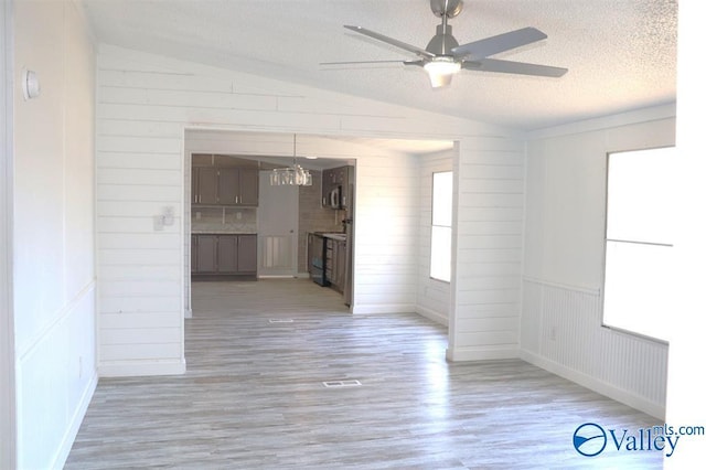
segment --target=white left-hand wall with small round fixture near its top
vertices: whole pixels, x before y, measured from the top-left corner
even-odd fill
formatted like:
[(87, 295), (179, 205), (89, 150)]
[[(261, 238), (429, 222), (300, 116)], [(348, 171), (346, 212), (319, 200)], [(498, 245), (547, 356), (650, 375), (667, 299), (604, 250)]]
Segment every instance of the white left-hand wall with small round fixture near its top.
[(30, 100), (20, 86), (12, 87), (17, 468), (62, 468), (98, 378), (96, 50), (89, 25), (71, 0), (17, 1), (10, 9), (10, 76), (18, 79), (28, 67), (42, 86), (41, 95)]

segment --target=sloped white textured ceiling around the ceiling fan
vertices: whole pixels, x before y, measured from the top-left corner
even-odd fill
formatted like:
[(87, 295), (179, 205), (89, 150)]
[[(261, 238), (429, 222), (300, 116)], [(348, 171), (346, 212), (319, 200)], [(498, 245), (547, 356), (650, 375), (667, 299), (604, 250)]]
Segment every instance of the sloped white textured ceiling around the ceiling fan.
[(463, 71), (431, 89), (419, 67), (323, 67), (409, 60), (343, 29), (425, 47), (427, 0), (83, 0), (101, 42), (453, 116), (539, 129), (676, 100), (676, 0), (466, 0), (463, 44), (535, 26), (548, 39), (494, 56), (567, 67), (561, 78)]

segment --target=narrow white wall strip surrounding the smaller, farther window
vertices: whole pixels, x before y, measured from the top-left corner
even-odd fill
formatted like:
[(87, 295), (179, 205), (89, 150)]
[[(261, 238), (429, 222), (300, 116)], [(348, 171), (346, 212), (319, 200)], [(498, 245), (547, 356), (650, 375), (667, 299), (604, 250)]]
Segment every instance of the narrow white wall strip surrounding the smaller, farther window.
[(449, 323), (450, 284), (429, 277), (431, 256), (431, 193), (434, 173), (453, 170), (453, 151), (419, 156), (419, 254), (417, 313), (441, 324)]

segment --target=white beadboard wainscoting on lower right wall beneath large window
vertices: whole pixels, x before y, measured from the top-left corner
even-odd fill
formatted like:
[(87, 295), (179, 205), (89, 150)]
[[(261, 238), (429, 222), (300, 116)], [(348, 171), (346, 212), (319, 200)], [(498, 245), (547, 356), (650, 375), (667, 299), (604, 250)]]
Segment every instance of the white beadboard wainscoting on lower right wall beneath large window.
[(601, 323), (598, 291), (524, 280), (524, 359), (664, 418), (667, 345)]

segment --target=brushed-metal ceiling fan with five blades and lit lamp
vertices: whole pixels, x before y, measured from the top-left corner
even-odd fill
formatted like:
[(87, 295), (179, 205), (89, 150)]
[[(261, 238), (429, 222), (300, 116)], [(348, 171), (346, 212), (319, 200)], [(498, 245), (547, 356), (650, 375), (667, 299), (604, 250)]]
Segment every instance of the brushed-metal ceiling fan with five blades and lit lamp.
[[(547, 38), (545, 33), (535, 28), (522, 28), (520, 30), (459, 45), (456, 38), (451, 34), (451, 25), (448, 24), (448, 20), (457, 17), (461, 12), (463, 9), (463, 0), (430, 0), (430, 3), (434, 14), (441, 18), (441, 24), (437, 26), (437, 33), (431, 38), (431, 41), (429, 41), (426, 49), (407, 44), (362, 26), (344, 25), (343, 28), (417, 54), (419, 57), (418, 60), (402, 61), (402, 63), (405, 65), (417, 65), (424, 67), (429, 75), (432, 88), (450, 85), (453, 75), (462, 68), (545, 77), (560, 77), (568, 72), (567, 68), (561, 67), (490, 58), (491, 55), (532, 44)], [(399, 61), (327, 62), (321, 65), (370, 64), (383, 62)]]

